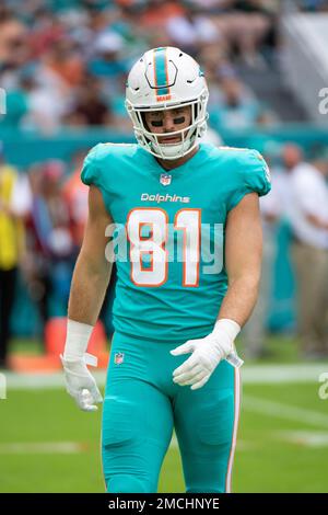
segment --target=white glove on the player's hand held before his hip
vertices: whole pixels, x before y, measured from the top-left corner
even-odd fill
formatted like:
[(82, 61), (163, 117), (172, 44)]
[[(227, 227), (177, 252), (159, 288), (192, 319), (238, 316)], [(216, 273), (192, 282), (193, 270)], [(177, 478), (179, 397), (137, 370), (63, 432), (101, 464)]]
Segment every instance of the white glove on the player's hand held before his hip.
[(188, 340), (171, 351), (174, 356), (192, 353), (174, 370), (173, 381), (179, 386), (191, 385), (191, 390), (197, 390), (209, 380), (221, 359), (229, 358), (232, 365), (241, 366), (243, 362), (234, 351), (234, 340), (239, 331), (241, 327), (234, 320), (221, 319), (208, 336)]

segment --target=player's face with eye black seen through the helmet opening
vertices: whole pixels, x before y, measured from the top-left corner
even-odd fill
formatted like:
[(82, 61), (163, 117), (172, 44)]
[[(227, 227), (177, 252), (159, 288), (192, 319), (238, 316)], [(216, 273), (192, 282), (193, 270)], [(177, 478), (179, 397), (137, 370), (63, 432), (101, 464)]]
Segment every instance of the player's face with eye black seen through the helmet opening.
[[(191, 105), (173, 110), (150, 111), (144, 114), (144, 121), (149, 130), (153, 134), (175, 133), (189, 127), (191, 124)], [(159, 142), (164, 145), (178, 144), (179, 141), (181, 141), (181, 134), (159, 137)]]

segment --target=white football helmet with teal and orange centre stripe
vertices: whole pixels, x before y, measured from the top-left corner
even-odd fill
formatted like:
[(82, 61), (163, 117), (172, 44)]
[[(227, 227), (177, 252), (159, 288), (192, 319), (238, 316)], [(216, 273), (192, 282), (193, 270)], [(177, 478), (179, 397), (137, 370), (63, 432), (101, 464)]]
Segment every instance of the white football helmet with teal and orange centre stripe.
[[(161, 159), (177, 159), (190, 152), (207, 130), (209, 91), (203, 72), (192, 57), (179, 48), (147, 52), (132, 67), (126, 90), (126, 108), (138, 144)], [(143, 113), (191, 105), (191, 124), (165, 136), (181, 135), (178, 144), (160, 144), (160, 134), (145, 126)]]

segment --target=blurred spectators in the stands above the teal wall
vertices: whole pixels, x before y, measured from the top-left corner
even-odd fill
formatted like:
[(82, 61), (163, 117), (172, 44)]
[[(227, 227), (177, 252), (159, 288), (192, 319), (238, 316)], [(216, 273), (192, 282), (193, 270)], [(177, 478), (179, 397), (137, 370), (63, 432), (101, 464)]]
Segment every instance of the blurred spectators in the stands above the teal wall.
[[(129, 129), (126, 75), (147, 49), (179, 46), (204, 68), (213, 122), (270, 124), (273, 114), (238, 76), (277, 49), (278, 0), (0, 0), (5, 128)], [(220, 108), (218, 108), (220, 107)]]

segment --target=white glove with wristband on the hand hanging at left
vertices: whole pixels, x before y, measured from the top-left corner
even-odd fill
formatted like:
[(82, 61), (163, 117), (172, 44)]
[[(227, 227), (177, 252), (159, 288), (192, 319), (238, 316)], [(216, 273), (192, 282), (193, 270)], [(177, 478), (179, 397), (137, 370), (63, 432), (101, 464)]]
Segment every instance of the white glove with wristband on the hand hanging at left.
[(65, 353), (63, 356), (60, 355), (67, 391), (83, 411), (96, 411), (95, 404), (103, 402), (96, 382), (86, 367), (86, 364), (96, 366), (97, 362), (94, 356), (85, 354), (92, 331), (92, 325), (68, 320)]

